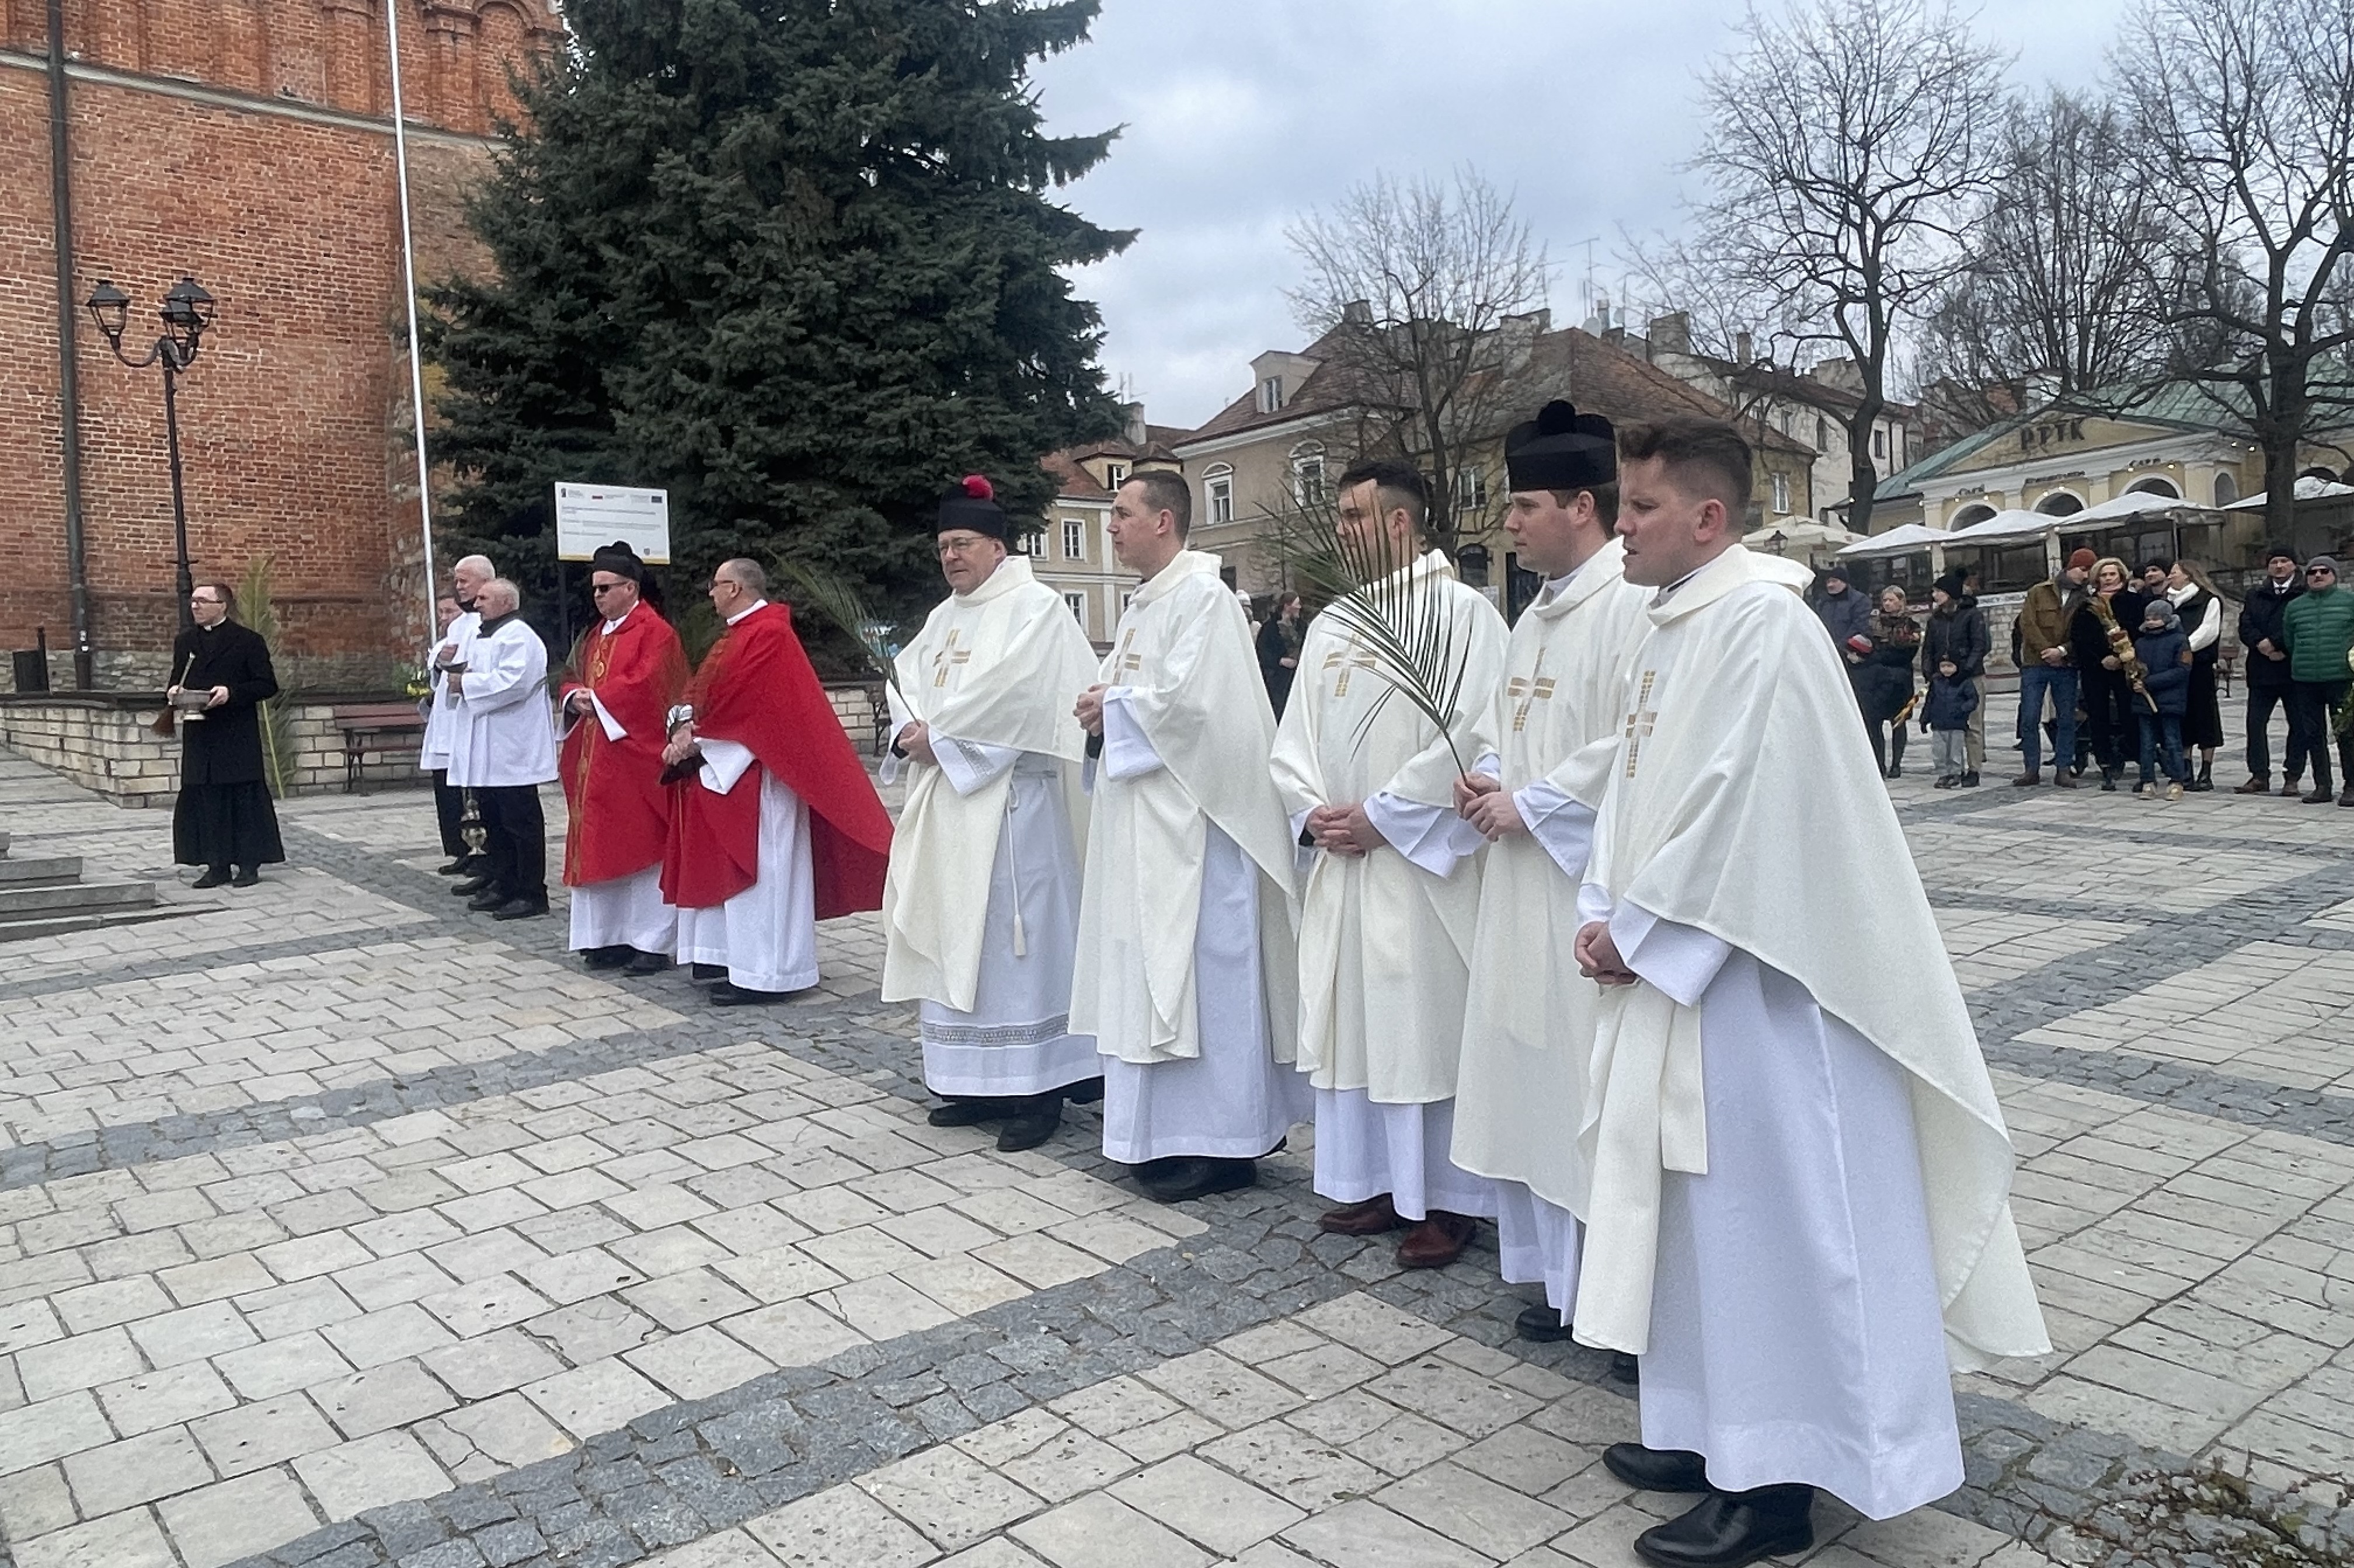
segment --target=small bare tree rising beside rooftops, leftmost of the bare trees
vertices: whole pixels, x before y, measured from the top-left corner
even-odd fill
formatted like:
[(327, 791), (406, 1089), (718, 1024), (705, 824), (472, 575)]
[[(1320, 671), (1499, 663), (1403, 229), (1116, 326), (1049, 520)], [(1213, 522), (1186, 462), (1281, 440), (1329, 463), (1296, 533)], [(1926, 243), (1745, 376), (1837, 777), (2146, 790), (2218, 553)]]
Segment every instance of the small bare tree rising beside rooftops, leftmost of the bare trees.
[(1492, 372), (1532, 337), (1511, 318), (1542, 306), (1551, 283), (1544, 247), (1469, 167), (1450, 181), (1375, 177), (1285, 238), (1306, 273), (1292, 311), (1330, 353), (1318, 377), (1346, 400), (1363, 457), (1422, 466), (1431, 532), (1452, 553), (1469, 447), (1495, 436)]

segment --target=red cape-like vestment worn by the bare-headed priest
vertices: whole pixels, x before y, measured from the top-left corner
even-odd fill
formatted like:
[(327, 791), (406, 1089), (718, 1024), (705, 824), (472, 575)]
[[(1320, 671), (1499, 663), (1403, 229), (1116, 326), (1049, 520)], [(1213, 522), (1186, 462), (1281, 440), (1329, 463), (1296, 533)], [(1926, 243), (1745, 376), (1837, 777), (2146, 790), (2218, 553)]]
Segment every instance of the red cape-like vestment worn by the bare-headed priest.
[[(763, 605), (720, 633), (687, 687), (694, 735), (751, 749), (810, 808), (810, 871), (817, 918), (883, 909), (890, 812), (859, 765), (784, 605)], [(671, 843), (661, 897), (711, 909), (760, 876), (760, 786), (704, 789), (701, 775), (671, 786)]]

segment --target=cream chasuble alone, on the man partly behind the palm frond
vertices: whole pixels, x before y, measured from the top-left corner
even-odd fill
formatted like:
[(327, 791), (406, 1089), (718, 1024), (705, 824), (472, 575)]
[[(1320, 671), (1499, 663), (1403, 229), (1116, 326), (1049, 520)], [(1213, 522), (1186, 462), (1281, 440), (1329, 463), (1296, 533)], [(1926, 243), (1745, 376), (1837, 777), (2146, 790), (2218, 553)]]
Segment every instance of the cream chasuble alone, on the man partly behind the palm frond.
[[(1325, 610), (1299, 645), (1299, 676), (1276, 730), (1276, 789), (1290, 822), (1318, 805), (1387, 796), (1448, 841), (1462, 763), (1495, 751), (1490, 695), (1504, 685), (1504, 617), (1455, 579), (1438, 551), (1405, 567), (1441, 596), (1464, 678), (1441, 735), (1382, 678), (1342, 614)], [(1372, 810), (1372, 808), (1368, 808)], [(1375, 812), (1379, 815), (1379, 812)], [(1417, 850), (1417, 857), (1419, 850)], [(1455, 1095), (1478, 859), (1438, 850), (1434, 873), (1408, 850), (1318, 855), (1299, 899), (1299, 1069), (1318, 1090), (1365, 1090), (1375, 1104)]]

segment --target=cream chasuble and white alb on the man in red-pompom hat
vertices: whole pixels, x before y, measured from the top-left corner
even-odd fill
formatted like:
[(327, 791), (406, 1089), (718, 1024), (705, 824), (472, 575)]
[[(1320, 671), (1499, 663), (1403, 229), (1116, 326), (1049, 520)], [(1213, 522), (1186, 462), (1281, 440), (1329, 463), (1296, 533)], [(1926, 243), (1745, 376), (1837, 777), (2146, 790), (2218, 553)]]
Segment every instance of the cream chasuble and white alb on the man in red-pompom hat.
[(1095, 1041), (1069, 1012), (1085, 845), (1071, 704), (1095, 650), (1029, 560), (1008, 558), (935, 607), (895, 671), (892, 727), (920, 718), (937, 765), (885, 763), (909, 789), (883, 885), (883, 998), (920, 1003), (939, 1095), (1092, 1078)]

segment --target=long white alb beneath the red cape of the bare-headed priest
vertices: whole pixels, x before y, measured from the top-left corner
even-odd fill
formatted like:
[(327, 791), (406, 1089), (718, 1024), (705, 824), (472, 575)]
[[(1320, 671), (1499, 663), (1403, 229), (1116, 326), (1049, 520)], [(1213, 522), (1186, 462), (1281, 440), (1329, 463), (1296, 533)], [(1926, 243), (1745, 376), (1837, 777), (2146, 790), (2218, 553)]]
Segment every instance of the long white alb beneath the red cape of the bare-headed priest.
[[(767, 600), (727, 617), (734, 626)], [(678, 911), (678, 961), (718, 963), (746, 991), (805, 991), (817, 984), (817, 881), (810, 864), (810, 808), (763, 768), (751, 746), (694, 739), (701, 784), (725, 796), (760, 791), (760, 871), (725, 904)]]

